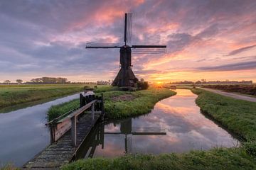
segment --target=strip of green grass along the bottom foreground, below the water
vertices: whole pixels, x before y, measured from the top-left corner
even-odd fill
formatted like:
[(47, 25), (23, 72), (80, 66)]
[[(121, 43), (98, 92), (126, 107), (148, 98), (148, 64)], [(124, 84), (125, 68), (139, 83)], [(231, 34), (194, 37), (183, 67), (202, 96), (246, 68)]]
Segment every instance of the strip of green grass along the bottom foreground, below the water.
[(191, 151), (184, 154), (128, 155), (114, 159), (81, 159), (63, 166), (62, 170), (114, 170), (114, 169), (256, 169), (255, 157), (250, 157), (243, 149), (218, 148), (210, 151)]

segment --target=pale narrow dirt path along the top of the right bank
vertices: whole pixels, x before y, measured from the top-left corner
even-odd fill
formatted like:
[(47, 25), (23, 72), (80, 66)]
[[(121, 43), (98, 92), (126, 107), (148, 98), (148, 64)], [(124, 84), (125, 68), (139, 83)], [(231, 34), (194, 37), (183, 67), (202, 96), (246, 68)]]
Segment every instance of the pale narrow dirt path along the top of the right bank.
[(240, 99), (240, 100), (244, 100), (244, 101), (256, 102), (256, 98), (250, 97), (250, 96), (244, 96), (242, 94), (234, 94), (234, 93), (230, 93), (230, 92), (225, 92), (225, 91), (220, 91), (220, 90), (215, 90), (215, 89), (201, 88), (201, 87), (198, 87), (198, 89), (211, 91), (215, 94), (220, 94), (220, 95), (223, 95), (223, 96), (228, 96), (228, 97), (232, 97), (232, 98), (236, 98), (236, 99)]

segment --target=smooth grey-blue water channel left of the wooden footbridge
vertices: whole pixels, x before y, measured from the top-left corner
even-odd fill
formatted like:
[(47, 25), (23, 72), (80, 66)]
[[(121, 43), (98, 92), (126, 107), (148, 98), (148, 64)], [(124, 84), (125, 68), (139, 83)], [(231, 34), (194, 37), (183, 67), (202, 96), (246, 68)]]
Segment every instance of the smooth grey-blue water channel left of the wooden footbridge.
[(0, 114), (0, 167), (22, 166), (50, 144), (46, 113), (50, 106), (79, 98), (79, 94), (18, 111)]

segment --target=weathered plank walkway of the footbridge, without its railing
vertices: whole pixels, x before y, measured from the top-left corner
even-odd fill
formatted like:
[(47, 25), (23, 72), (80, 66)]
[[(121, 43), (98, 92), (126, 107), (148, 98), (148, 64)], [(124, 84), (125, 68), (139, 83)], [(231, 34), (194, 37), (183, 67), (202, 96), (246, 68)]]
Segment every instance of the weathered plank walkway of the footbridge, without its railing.
[[(57, 142), (49, 145), (41, 153), (27, 162), (23, 169), (59, 169), (63, 164), (70, 162), (85, 137), (100, 118), (100, 113), (95, 113), (95, 121), (92, 122), (91, 115), (85, 114), (76, 124), (77, 146), (73, 146), (71, 129), (65, 132)], [(74, 118), (75, 119), (75, 118)]]

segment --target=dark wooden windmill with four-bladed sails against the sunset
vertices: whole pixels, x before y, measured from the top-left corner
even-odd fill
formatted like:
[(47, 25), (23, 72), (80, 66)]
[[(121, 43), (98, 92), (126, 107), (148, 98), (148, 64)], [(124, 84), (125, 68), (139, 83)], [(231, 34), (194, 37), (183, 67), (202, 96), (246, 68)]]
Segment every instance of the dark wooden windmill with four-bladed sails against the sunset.
[(119, 89), (132, 89), (138, 79), (132, 72), (132, 52), (135, 54), (161, 54), (166, 52), (166, 45), (128, 45), (132, 41), (132, 13), (124, 15), (124, 45), (114, 43), (87, 42), (86, 48), (119, 48), (120, 67), (112, 85)]

